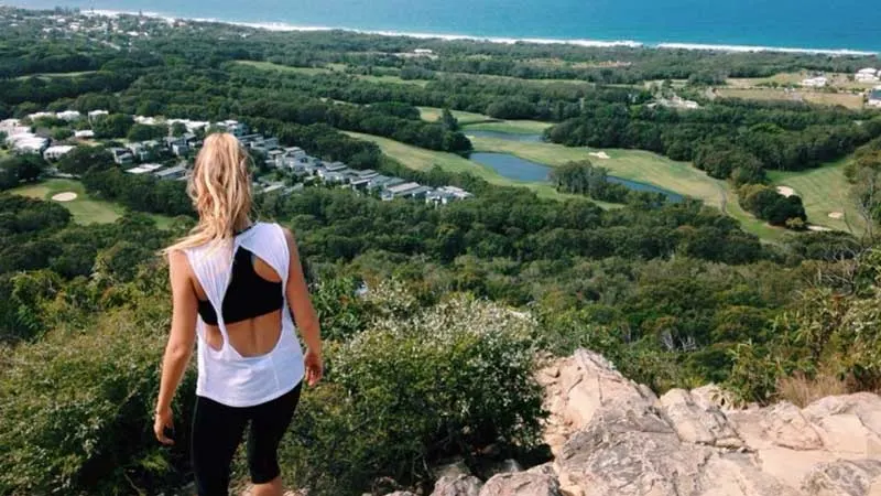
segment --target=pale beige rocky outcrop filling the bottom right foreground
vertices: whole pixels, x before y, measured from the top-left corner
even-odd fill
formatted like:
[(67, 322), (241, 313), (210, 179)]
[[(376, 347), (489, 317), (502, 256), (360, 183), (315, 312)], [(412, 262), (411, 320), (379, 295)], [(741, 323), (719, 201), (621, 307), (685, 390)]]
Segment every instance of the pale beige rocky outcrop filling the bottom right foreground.
[(556, 459), (497, 477), (556, 475), (567, 496), (881, 496), (878, 395), (828, 397), (804, 409), (737, 410), (714, 387), (659, 399), (587, 351), (537, 378)]

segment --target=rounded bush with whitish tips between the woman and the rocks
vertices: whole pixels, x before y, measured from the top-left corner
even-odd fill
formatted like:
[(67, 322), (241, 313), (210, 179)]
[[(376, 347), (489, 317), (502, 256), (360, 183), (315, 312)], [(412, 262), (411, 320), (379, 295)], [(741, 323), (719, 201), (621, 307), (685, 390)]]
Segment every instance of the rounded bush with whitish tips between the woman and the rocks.
[(304, 395), (284, 473), (318, 494), (360, 494), (379, 476), (490, 443), (537, 443), (542, 395), (527, 315), (455, 296), (389, 317), (328, 349), (326, 384)]

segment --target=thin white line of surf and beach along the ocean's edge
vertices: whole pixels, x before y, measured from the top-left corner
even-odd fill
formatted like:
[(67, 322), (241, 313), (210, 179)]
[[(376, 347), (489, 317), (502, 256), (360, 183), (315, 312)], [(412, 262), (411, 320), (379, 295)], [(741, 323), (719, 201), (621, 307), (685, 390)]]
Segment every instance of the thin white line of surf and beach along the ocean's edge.
[(657, 42), (643, 43), (633, 40), (586, 40), (586, 39), (546, 39), (546, 37), (505, 37), (505, 36), (480, 36), (471, 34), (447, 34), (447, 33), (418, 33), (406, 31), (385, 31), (385, 30), (363, 30), (348, 26), (318, 26), (318, 25), (295, 25), (284, 22), (241, 22), (211, 18), (185, 18), (159, 12), (132, 12), (106, 9), (80, 9), (80, 13), (89, 15), (116, 17), (116, 15), (144, 15), (150, 18), (163, 19), (168, 22), (191, 21), (191, 22), (213, 22), (221, 24), (238, 25), (265, 31), (278, 32), (316, 32), (316, 31), (346, 31), (360, 34), (376, 34), (380, 36), (404, 36), (417, 40), (443, 40), (458, 41), (470, 40), (488, 43), (515, 44), (564, 44), (584, 47), (626, 47), (626, 48), (655, 48), (655, 50), (689, 50), (707, 52), (728, 52), (728, 53), (750, 53), (750, 52), (771, 52), (787, 54), (806, 55), (830, 55), (830, 56), (880, 56), (881, 52), (850, 50), (850, 48), (801, 48), (787, 46), (762, 46), (762, 45), (729, 45), (729, 44), (707, 44), (707, 43), (683, 43), (683, 42)]

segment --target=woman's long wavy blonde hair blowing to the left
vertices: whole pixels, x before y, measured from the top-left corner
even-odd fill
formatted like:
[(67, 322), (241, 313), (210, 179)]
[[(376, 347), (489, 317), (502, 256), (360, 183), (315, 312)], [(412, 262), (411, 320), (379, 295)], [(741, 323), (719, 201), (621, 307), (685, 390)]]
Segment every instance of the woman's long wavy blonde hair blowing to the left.
[(205, 138), (186, 188), (199, 222), (187, 236), (165, 248), (165, 255), (228, 241), (251, 225), (249, 163), (250, 155), (232, 134), (218, 132)]

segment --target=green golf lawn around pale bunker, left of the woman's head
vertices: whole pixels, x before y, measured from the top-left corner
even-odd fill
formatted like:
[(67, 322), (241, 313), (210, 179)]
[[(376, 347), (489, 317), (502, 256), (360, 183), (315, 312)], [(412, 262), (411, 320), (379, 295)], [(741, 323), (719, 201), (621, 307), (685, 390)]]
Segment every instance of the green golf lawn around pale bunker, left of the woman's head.
[[(70, 214), (74, 216), (74, 222), (77, 224), (112, 223), (126, 213), (126, 208), (121, 205), (100, 200), (93, 200), (89, 197), (88, 193), (86, 193), (85, 187), (83, 187), (83, 183), (74, 180), (51, 179), (41, 183), (30, 184), (28, 186), (17, 187), (10, 191), (10, 193), (17, 195), (45, 200), (47, 202), (53, 201), (53, 195), (65, 192), (76, 193), (77, 195), (76, 200), (74, 201), (59, 203), (70, 211)], [(148, 215), (156, 222), (157, 227), (161, 229), (165, 229), (171, 226), (171, 217), (155, 214)]]

